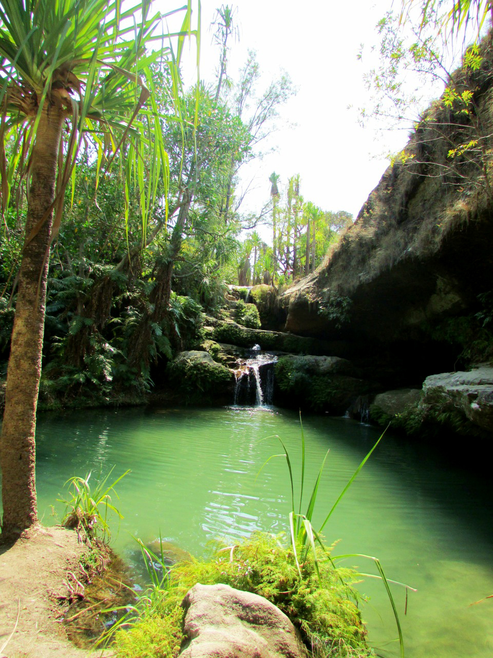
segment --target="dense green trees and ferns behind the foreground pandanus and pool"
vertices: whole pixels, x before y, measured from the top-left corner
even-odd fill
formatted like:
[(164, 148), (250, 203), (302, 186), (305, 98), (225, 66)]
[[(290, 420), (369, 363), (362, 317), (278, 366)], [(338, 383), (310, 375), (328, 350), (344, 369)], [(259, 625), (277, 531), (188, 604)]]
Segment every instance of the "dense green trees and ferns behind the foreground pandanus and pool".
[[(258, 91), (253, 53), (237, 85), (226, 91), (200, 84), (177, 95), (168, 69), (154, 66), (152, 73), (154, 109), (163, 119), (158, 124), (150, 116), (149, 122), (160, 134), (168, 170), (147, 180), (148, 172), (156, 174), (149, 151), (147, 161), (127, 168), (122, 185), (131, 145), (122, 145), (112, 167), (104, 168), (99, 144), (85, 142), (49, 261), (41, 407), (139, 401), (163, 373), (171, 374), (165, 367), (174, 354), (200, 343), (203, 313), (220, 313), (226, 284), (263, 275), (277, 285), (308, 272), (335, 240), (337, 227), (350, 220), (303, 204), (293, 187), (298, 176), (285, 207), (275, 203), (274, 247), (256, 232), (245, 239), (243, 227), (262, 217), (241, 215), (237, 174), (259, 155), (258, 143), (291, 93), (289, 79)], [(12, 141), (9, 148), (15, 148)], [(14, 186), (0, 236), (0, 376), (24, 240), (22, 184), (20, 178)], [(236, 314), (240, 324), (260, 328), (254, 306), (240, 303)]]

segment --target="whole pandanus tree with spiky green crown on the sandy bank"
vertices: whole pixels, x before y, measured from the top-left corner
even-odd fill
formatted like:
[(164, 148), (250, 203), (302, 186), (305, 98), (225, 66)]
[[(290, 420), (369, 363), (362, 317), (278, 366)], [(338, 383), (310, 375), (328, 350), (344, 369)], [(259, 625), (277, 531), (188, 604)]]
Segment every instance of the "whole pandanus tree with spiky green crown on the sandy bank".
[[(158, 14), (149, 0), (0, 0), (1, 210), (11, 186), (24, 182), (28, 205), (1, 435), (3, 534), (15, 536), (37, 520), (35, 412), (41, 375), (47, 268), (57, 236), (66, 188), (78, 151), (87, 139), (94, 157), (110, 167), (125, 151), (124, 187), (141, 181), (143, 222), (160, 164), (143, 188), (142, 149), (165, 163), (159, 122), (150, 139), (149, 116), (139, 114), (150, 98), (146, 71), (159, 60), (175, 62), (169, 49), (145, 46), (158, 38)], [(177, 55), (190, 33), (191, 5), (177, 33)], [(159, 35), (162, 39), (162, 34)], [(160, 41), (164, 43), (164, 41)], [(166, 41), (168, 43), (168, 41)], [(148, 115), (156, 105), (148, 103)], [(7, 147), (4, 147), (4, 144)]]

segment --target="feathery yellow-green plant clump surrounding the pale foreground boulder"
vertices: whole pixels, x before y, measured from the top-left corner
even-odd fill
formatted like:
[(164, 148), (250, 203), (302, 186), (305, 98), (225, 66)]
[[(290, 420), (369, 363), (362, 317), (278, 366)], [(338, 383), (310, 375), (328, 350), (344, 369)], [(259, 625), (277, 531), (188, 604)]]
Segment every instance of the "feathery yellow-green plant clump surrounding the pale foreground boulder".
[[(265, 597), (291, 619), (314, 655), (373, 655), (358, 609), (360, 595), (352, 587), (357, 574), (335, 568), (322, 549), (317, 561), (308, 553), (298, 570), (293, 547), (283, 545), (281, 539), (259, 532), (238, 545), (216, 545), (208, 560), (172, 567), (169, 576), (154, 582), (145, 594), (145, 605), (135, 608), (137, 616), (128, 621), (130, 630), (117, 632), (112, 645), (116, 656), (176, 657), (181, 642), (181, 601), (197, 582), (224, 583)], [(147, 549), (146, 553), (153, 563), (159, 561)]]

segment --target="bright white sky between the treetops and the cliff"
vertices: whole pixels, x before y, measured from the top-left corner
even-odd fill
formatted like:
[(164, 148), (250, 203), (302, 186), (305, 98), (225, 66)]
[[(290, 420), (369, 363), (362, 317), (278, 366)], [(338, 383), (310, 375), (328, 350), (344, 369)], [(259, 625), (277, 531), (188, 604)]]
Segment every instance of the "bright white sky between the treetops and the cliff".
[[(400, 1), (394, 4), (399, 9)], [(164, 0), (156, 0), (154, 7), (169, 11), (170, 3), (164, 5)], [(266, 86), (285, 70), (298, 88), (281, 108), (279, 124), (284, 127), (271, 137), (270, 145), (277, 151), (243, 171), (243, 184), (251, 178), (255, 183), (241, 210), (254, 212), (268, 201), (268, 177), (275, 170), (281, 186), (299, 173), (306, 201), (323, 210), (346, 210), (356, 218), (387, 168), (383, 154), (402, 149), (408, 139), (407, 130), (382, 137), (358, 124), (357, 109), (365, 106), (368, 92), (365, 62), (358, 62), (357, 54), (360, 44), (366, 52), (377, 43), (375, 24), (392, 0), (356, 0), (348, 5), (328, 0), (236, 0), (231, 5), (238, 7), (240, 36), (231, 49), (229, 77), (235, 80), (248, 49), (254, 49)], [(202, 0), (200, 77), (211, 83), (219, 50), (212, 44), (209, 26), (218, 6), (218, 0)], [(195, 44), (190, 58), (195, 58)]]

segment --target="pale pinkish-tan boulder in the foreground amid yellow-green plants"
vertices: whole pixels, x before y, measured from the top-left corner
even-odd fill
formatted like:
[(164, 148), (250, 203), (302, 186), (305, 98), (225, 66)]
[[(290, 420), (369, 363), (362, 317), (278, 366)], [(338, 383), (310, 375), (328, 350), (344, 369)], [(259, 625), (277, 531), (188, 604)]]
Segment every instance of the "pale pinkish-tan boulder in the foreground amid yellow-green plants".
[(308, 658), (291, 621), (262, 596), (197, 584), (182, 605), (182, 658)]

